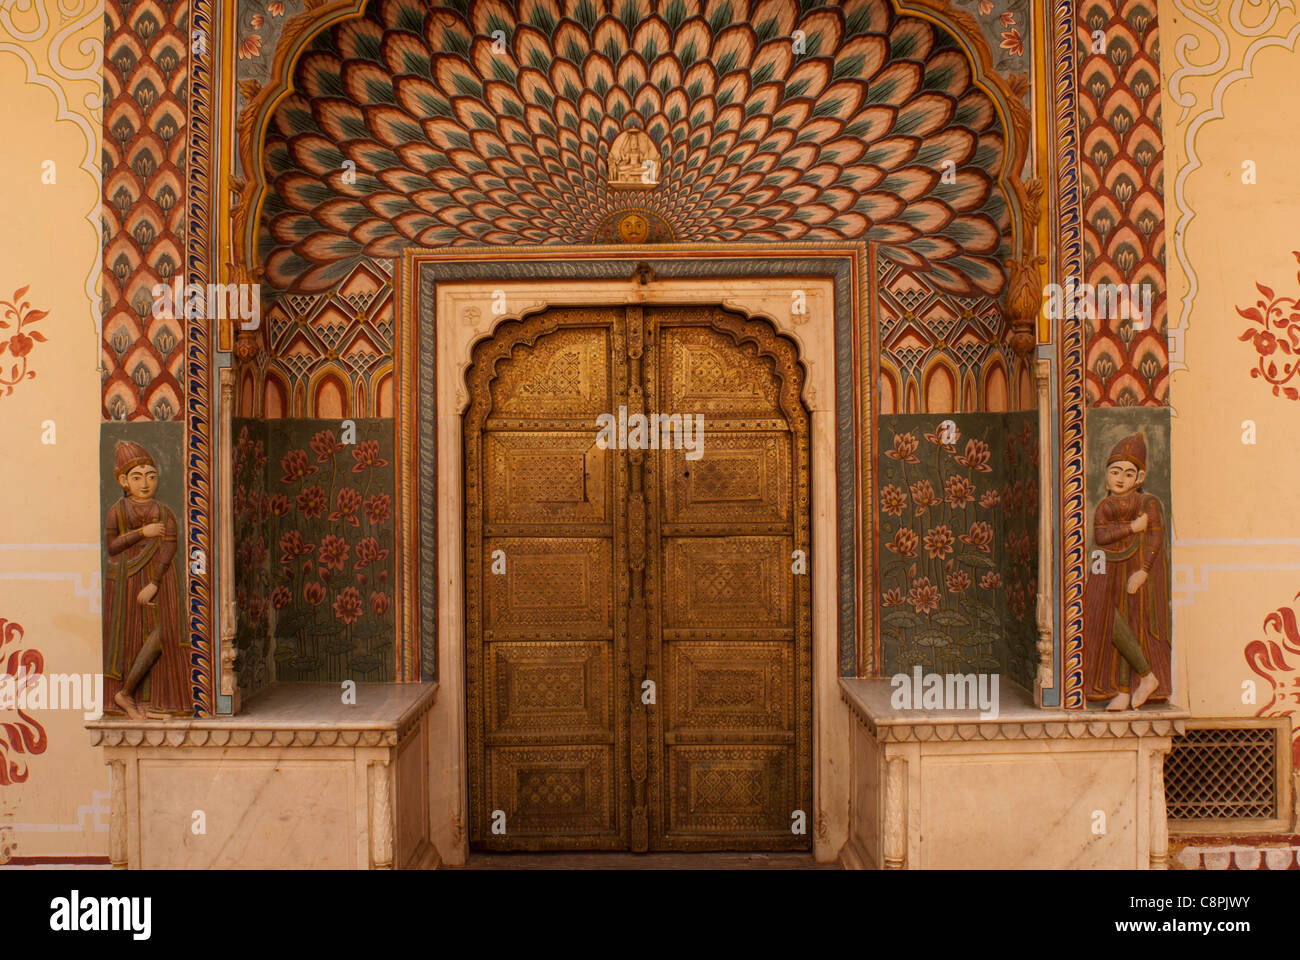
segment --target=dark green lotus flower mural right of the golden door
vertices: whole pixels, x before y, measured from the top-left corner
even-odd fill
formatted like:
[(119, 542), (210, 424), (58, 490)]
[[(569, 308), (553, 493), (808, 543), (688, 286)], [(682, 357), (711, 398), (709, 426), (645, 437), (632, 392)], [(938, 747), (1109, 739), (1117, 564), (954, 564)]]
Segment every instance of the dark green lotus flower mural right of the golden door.
[(880, 418), (880, 673), (1037, 665), (1037, 415)]

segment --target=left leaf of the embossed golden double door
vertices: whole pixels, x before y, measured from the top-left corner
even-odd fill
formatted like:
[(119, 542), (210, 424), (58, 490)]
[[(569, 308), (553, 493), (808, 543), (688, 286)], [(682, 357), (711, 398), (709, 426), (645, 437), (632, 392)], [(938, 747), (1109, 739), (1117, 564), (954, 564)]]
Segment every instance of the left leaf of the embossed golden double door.
[(474, 353), (469, 839), (488, 849), (627, 849), (627, 468), (593, 428), (627, 393), (623, 350), (621, 311), (552, 310)]

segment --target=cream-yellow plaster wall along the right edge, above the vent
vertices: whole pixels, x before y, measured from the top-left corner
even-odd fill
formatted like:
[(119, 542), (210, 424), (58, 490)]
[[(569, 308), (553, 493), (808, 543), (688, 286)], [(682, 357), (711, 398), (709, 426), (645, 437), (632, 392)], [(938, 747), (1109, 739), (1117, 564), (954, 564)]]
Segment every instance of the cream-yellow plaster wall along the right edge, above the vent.
[[(1300, 20), (1277, 0), (1219, 3), (1214, 18), (1162, 0), (1160, 36), (1175, 678), (1195, 715), (1294, 714), (1300, 673), (1277, 671), (1290, 689), (1275, 697), (1244, 648), (1300, 591), (1300, 401), (1251, 377), (1258, 354), (1239, 334), (1253, 324), (1236, 308), (1260, 299), (1257, 281), (1300, 297)], [(1247, 420), (1254, 445), (1243, 444)]]

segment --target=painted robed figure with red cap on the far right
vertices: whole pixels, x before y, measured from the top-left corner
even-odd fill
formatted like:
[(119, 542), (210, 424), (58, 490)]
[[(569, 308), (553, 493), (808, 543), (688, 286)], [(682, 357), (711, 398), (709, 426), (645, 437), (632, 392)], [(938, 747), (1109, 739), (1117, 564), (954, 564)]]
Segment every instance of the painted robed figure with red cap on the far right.
[(1105, 570), (1084, 589), (1084, 693), (1109, 700), (1108, 710), (1166, 700), (1170, 689), (1165, 524), (1160, 501), (1143, 493), (1145, 479), (1147, 441), (1135, 433), (1106, 459), (1108, 496), (1092, 526)]

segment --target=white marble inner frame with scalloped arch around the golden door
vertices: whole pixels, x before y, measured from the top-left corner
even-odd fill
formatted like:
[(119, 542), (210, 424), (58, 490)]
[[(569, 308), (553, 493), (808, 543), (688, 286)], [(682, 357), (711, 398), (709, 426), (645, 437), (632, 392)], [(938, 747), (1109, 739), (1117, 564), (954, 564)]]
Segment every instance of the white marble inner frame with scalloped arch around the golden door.
[[(807, 312), (792, 313), (792, 289)], [(507, 312), (493, 312), (497, 294)], [(497, 299), (494, 299), (497, 298)], [(800, 347), (811, 412), (812, 795), (809, 830), (819, 861), (835, 860), (849, 829), (849, 714), (838, 691), (836, 571), (835, 290), (831, 278), (439, 282), (437, 286), (438, 682), (432, 712), (430, 822), (448, 865), (468, 855), (465, 783), (464, 446), (471, 351), (503, 321), (555, 306), (719, 304), (764, 317)]]

